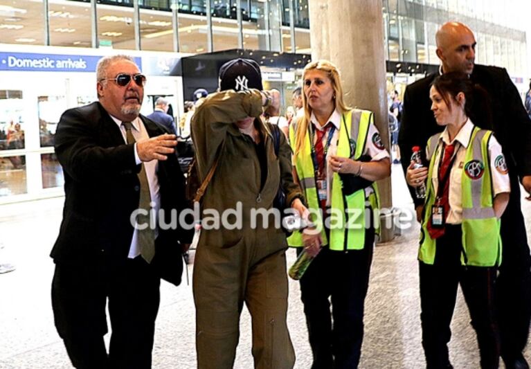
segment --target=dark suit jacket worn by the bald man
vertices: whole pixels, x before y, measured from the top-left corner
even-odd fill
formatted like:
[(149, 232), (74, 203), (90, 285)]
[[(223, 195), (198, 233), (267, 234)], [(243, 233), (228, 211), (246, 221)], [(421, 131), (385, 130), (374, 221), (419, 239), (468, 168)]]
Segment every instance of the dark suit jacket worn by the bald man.
[[(410, 84), (404, 93), (402, 127), (399, 132), (399, 147), (404, 170), (410, 163), (411, 147), (420, 146), (424, 151), (428, 138), (444, 129), (435, 122), (429, 98), (431, 83), (437, 75), (438, 73), (431, 74)], [(509, 168), (511, 197), (516, 193), (519, 196), (518, 188), (514, 189), (514, 186), (518, 186), (518, 176), (531, 174), (531, 120), (525, 112), (518, 90), (505, 69), (476, 64), (470, 78), (472, 82), (483, 87), (490, 97), (487, 102), (476, 101), (472, 107), (474, 116), (470, 118), (481, 127), (481, 117), (489, 115), (485, 112), (490, 109), (493, 124), (491, 129), (501, 144)], [(474, 121), (476, 117), (477, 122)], [(413, 190), (411, 188), (410, 190), (415, 204), (422, 204), (422, 201), (415, 198)]]

